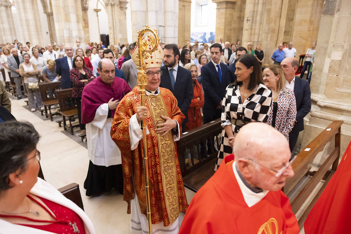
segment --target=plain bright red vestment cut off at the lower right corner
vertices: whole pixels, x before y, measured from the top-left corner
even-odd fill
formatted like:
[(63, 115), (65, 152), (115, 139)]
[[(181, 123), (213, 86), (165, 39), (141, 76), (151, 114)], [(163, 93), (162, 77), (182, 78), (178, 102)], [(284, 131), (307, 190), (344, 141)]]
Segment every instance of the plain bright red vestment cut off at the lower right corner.
[(351, 233), (351, 142), (304, 223), (306, 234)]

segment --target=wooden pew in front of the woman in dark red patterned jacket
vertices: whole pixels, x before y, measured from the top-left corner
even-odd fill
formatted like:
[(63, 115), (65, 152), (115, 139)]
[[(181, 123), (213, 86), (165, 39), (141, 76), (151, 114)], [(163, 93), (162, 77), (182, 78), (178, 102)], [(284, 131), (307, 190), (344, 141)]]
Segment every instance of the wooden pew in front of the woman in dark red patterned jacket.
[[(64, 129), (66, 130), (66, 117), (69, 121), (69, 129), (71, 130), (71, 134), (73, 135), (73, 128), (78, 127), (77, 125), (72, 125), (72, 121), (74, 116), (78, 118), (78, 109), (75, 106), (75, 100), (72, 98), (72, 88), (60, 89), (56, 91), (58, 103), (60, 106), (59, 113), (62, 115), (62, 122), (64, 124)], [(72, 103), (74, 105), (72, 106)]]

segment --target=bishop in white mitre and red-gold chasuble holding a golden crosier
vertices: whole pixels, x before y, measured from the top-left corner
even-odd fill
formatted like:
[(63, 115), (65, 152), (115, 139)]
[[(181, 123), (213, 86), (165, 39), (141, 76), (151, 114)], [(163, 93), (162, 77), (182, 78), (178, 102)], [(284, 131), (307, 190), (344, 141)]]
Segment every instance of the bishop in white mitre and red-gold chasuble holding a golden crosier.
[[(143, 42), (146, 44), (145, 38)], [(136, 47), (132, 53), (136, 64), (139, 63), (137, 53)], [(131, 234), (148, 233), (143, 142), (140, 141), (142, 119), (147, 127), (152, 230), (158, 230), (157, 234), (177, 234), (179, 212), (185, 212), (187, 208), (176, 146), (185, 116), (172, 92), (159, 87), (163, 58), (159, 45), (148, 59), (144, 59), (148, 81), (145, 106), (140, 106), (140, 90), (135, 86), (120, 101), (111, 127), (111, 138), (122, 153), (123, 200), (128, 203), (127, 213), (131, 213)]]

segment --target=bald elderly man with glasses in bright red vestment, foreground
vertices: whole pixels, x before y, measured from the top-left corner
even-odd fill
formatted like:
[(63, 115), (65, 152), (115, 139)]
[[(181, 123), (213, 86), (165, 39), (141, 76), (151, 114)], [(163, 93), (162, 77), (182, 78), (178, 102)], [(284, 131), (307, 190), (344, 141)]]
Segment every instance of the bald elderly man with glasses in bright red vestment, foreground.
[(236, 136), (233, 153), (195, 194), (179, 234), (298, 234), (281, 190), (294, 175), (285, 137), (264, 123), (249, 123)]

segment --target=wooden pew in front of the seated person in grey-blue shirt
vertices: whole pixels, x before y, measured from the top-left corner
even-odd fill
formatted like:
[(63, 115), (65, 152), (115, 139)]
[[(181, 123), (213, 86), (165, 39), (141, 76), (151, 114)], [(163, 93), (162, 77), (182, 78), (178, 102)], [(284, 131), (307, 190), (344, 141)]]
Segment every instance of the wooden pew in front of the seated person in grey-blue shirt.
[(51, 121), (53, 121), (53, 115), (59, 115), (59, 113), (51, 113), (51, 105), (58, 104), (59, 102), (55, 96), (50, 97), (48, 91), (57, 91), (58, 89), (61, 89), (61, 81), (51, 83), (39, 83), (39, 92), (45, 108), (45, 117), (48, 118), (47, 109), (49, 109), (49, 116)]

